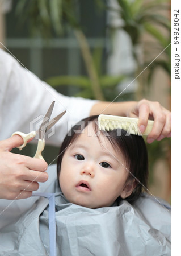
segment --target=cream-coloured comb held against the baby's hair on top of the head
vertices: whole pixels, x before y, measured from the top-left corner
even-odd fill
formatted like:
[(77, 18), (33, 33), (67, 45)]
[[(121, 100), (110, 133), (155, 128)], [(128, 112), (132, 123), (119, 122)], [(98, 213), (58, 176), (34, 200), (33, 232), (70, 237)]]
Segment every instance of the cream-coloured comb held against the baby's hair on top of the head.
[(132, 117), (119, 117), (117, 115), (99, 115), (98, 126), (99, 130), (112, 131), (115, 129), (123, 129), (128, 131), (129, 134), (134, 135), (148, 135), (153, 128), (154, 121), (148, 120), (148, 125), (144, 133), (141, 133), (138, 128), (138, 118)]

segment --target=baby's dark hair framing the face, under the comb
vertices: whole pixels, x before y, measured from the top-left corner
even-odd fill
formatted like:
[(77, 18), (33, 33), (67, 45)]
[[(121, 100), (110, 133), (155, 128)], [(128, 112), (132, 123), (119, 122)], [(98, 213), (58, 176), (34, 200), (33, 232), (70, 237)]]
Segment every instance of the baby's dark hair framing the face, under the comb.
[[(140, 196), (142, 190), (147, 188), (148, 185), (148, 154), (146, 144), (142, 136), (128, 135), (127, 131), (123, 129), (99, 131), (98, 115), (92, 115), (91, 117), (82, 119), (82, 121), (74, 125), (66, 135), (60, 148), (60, 155), (57, 159), (57, 177), (60, 175), (61, 162), (66, 148), (78, 138), (83, 129), (85, 129), (90, 122), (92, 122), (92, 127), (94, 127), (96, 134), (101, 133), (105, 135), (113, 148), (123, 154), (125, 167), (129, 171), (128, 179), (135, 179), (136, 182), (136, 188), (134, 188), (132, 194), (125, 200), (133, 203), (133, 201)], [(120, 197), (117, 200), (121, 200)]]

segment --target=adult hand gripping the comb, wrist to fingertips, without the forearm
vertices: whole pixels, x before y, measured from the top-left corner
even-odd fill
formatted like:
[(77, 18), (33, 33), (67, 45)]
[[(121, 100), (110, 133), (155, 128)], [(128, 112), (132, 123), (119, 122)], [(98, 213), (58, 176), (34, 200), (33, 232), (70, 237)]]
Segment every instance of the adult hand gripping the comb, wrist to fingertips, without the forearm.
[(134, 102), (132, 107), (128, 110), (128, 116), (138, 117), (138, 126), (141, 133), (146, 129), (148, 119), (154, 120), (154, 126), (147, 137), (147, 142), (151, 143), (157, 139), (170, 137), (171, 135), (171, 113), (165, 109), (159, 102), (141, 100)]

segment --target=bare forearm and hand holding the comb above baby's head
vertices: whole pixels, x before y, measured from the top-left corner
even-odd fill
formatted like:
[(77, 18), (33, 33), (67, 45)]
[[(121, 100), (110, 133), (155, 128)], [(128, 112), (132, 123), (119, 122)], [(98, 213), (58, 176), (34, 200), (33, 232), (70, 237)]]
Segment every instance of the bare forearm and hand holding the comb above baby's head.
[(170, 137), (171, 133), (171, 113), (159, 102), (141, 100), (125, 102), (96, 102), (92, 106), (90, 115), (110, 114), (122, 115), (124, 117), (139, 118), (138, 126), (141, 133), (146, 129), (148, 119), (154, 119), (154, 126), (147, 137), (147, 142), (151, 143), (155, 139), (161, 141), (165, 137)]

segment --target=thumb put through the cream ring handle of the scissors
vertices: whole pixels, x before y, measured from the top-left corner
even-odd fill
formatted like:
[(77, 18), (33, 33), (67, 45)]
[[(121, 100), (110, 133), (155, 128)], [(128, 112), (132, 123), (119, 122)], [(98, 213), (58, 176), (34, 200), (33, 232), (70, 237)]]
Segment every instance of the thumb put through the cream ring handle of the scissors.
[(20, 135), (14, 135), (0, 142), (0, 151), (11, 151), (12, 148), (23, 144), (23, 138)]

